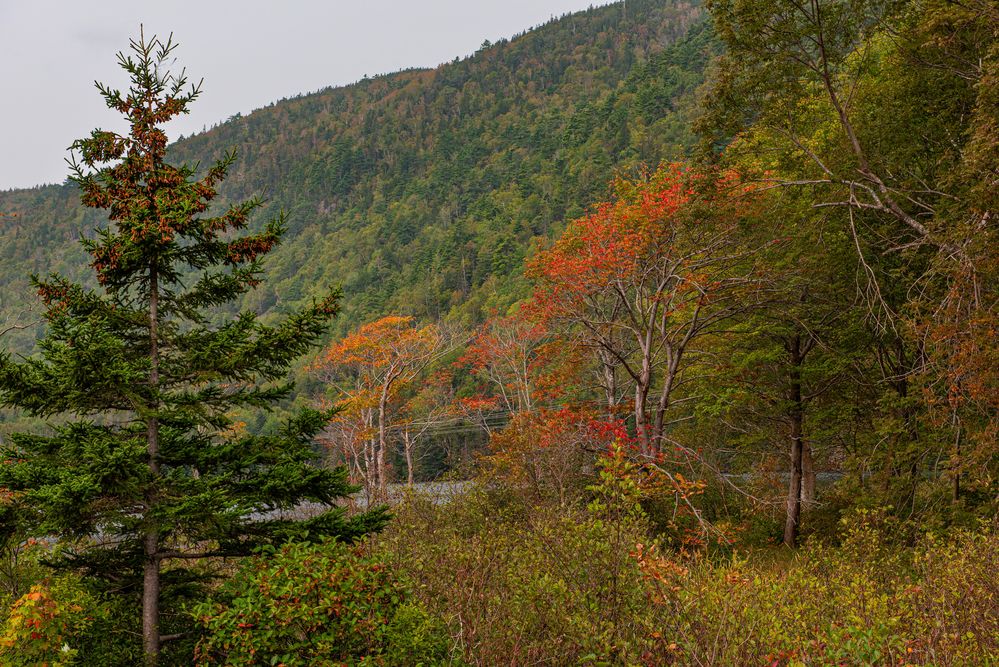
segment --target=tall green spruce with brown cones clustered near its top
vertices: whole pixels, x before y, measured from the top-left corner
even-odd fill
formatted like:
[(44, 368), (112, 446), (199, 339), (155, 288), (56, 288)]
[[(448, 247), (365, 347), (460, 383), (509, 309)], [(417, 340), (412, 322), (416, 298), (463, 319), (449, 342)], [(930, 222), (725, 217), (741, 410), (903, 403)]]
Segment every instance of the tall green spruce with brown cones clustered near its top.
[[(344, 469), (314, 464), (327, 415), (306, 410), (265, 435), (232, 428), (234, 411), (288, 395), (289, 365), (322, 335), (338, 295), (273, 326), (253, 313), (210, 323), (258, 284), (259, 258), (285, 225), (279, 216), (246, 232), (258, 199), (212, 206), (233, 154), (203, 172), (167, 163), (162, 126), (200, 90), (165, 69), (173, 49), (140, 37), (119, 53), (129, 90), (97, 88), (130, 131), (72, 146), (83, 204), (111, 223), (82, 241), (99, 288), (33, 278), (48, 323), (40, 354), (0, 355), (0, 403), (54, 418), (47, 433), (9, 438), (0, 486), (34, 534), (66, 545), (57, 564), (141, 591), (148, 664), (164, 639), (164, 589), (195, 576), (186, 564), (307, 535), (352, 539), (386, 518), (335, 505), (354, 489)], [(280, 512), (303, 503), (323, 509)]]

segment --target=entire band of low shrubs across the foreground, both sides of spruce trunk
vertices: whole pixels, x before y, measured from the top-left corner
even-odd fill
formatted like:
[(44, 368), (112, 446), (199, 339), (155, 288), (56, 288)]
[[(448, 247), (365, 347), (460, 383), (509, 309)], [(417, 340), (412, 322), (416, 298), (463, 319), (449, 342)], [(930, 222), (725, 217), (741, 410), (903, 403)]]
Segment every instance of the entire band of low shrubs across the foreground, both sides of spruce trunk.
[[(654, 535), (629, 466), (605, 459), (586, 506), (472, 484), (408, 494), (360, 546), (261, 553), (194, 606), (197, 648), (198, 632), (170, 642), (163, 664), (999, 664), (996, 523), (920, 536), (854, 510), (828, 543), (695, 549)], [(4, 611), (2, 665), (141, 661), (135, 610), (72, 575)]]

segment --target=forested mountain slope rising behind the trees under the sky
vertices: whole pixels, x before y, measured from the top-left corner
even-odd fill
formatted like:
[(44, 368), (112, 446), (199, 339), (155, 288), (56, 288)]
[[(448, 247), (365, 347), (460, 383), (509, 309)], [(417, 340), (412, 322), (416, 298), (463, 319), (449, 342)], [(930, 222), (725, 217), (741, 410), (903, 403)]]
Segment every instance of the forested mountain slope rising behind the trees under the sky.
[[(474, 321), (522, 295), (535, 240), (605, 195), (616, 171), (686, 151), (716, 48), (698, 4), (629, 0), (433, 70), (282, 100), (172, 152), (207, 164), (235, 149), (224, 198), (261, 195), (266, 213), (288, 214), (244, 307), (280, 312), (339, 284), (334, 333), (387, 312)], [(29, 273), (84, 275), (77, 238), (96, 220), (72, 186), (0, 193), (0, 212), (0, 312), (33, 302)], [(37, 333), (6, 343), (27, 348)]]

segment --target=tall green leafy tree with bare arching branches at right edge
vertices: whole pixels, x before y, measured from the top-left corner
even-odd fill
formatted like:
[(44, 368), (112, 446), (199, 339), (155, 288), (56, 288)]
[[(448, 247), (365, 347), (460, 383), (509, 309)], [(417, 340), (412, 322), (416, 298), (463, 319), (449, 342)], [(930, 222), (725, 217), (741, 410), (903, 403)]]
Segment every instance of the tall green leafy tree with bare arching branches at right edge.
[[(999, 381), (992, 0), (712, 0), (702, 130), (849, 235), (881, 391), (883, 502), (995, 497)], [(962, 479), (964, 480), (962, 482)], [(929, 507), (930, 505), (925, 505)]]

